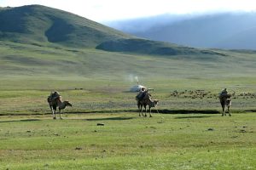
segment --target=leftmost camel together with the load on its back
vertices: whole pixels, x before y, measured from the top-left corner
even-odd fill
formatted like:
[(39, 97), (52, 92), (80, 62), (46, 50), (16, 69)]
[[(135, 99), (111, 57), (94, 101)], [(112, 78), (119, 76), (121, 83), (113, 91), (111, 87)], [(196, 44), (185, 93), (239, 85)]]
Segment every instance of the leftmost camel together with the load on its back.
[(55, 113), (58, 107), (61, 118), (61, 110), (64, 110), (67, 106), (72, 107), (72, 105), (68, 101), (61, 101), (61, 94), (58, 92), (51, 92), (47, 98), (47, 102), (49, 104), (49, 109), (52, 112), (53, 119), (56, 119)]

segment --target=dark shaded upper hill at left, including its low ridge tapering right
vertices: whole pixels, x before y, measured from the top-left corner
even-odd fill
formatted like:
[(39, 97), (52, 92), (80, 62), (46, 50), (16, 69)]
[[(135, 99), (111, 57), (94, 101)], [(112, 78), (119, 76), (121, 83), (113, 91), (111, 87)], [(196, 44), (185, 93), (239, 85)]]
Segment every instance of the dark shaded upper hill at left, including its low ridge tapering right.
[(215, 54), (211, 50), (138, 38), (76, 14), (40, 5), (1, 8), (0, 23), (1, 41), (136, 54)]

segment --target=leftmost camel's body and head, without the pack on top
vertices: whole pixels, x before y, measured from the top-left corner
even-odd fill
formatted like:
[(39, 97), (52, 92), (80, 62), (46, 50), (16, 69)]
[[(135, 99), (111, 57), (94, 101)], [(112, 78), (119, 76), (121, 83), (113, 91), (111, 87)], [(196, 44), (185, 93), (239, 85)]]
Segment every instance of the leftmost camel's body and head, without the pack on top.
[(56, 109), (58, 107), (59, 109), (59, 113), (60, 113), (60, 119), (62, 119), (61, 117), (61, 110), (64, 110), (67, 106), (71, 106), (72, 105), (68, 102), (68, 101), (61, 101), (61, 96), (55, 98), (55, 99), (50, 99), (50, 96), (47, 99), (48, 104), (49, 104), (49, 109), (52, 112), (52, 116), (53, 119), (56, 119), (55, 113), (56, 113)]

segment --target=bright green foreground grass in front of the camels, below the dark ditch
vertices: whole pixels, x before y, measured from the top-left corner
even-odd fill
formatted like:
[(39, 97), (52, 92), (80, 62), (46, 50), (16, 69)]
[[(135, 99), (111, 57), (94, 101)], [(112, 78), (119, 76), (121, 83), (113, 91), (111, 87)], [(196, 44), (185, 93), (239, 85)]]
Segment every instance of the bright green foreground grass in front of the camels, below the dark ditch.
[(0, 168), (253, 169), (254, 122), (253, 113), (2, 116)]

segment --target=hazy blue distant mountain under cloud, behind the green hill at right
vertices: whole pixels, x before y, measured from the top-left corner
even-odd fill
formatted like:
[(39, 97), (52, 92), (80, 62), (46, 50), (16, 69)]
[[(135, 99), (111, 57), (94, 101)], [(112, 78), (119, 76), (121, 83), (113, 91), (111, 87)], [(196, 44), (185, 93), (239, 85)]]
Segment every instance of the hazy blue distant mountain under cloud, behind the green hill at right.
[[(160, 15), (106, 23), (137, 37), (194, 48), (256, 49), (256, 13)], [(141, 26), (139, 26), (141, 25)]]

